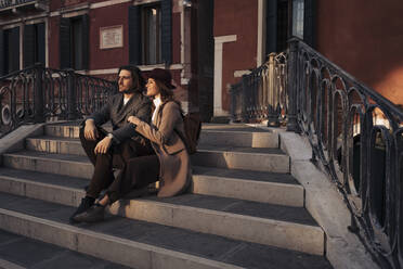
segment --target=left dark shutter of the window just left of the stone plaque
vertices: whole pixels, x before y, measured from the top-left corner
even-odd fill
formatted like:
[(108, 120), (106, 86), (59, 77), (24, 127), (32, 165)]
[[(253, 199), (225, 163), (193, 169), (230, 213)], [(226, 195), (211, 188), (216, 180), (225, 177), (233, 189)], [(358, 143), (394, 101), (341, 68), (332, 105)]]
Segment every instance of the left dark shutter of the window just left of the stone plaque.
[(70, 20), (61, 17), (60, 24), (60, 61), (61, 68), (72, 67)]

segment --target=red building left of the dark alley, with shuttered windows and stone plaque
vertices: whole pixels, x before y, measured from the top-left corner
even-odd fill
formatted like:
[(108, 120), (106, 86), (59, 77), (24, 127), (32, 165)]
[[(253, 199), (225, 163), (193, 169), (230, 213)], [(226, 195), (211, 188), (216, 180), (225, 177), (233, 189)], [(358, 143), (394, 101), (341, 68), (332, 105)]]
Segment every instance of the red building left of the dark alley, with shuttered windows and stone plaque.
[(188, 92), (197, 94), (198, 89), (198, 82), (192, 80), (196, 77), (197, 67), (193, 65), (198, 64), (198, 53), (191, 46), (192, 28), (196, 29), (198, 23), (196, 3), (182, 0), (1, 3), (0, 75), (38, 62), (50, 68), (73, 68), (107, 79), (115, 79), (118, 67), (126, 64), (138, 65), (144, 72), (168, 68), (178, 86), (176, 95), (187, 110)]

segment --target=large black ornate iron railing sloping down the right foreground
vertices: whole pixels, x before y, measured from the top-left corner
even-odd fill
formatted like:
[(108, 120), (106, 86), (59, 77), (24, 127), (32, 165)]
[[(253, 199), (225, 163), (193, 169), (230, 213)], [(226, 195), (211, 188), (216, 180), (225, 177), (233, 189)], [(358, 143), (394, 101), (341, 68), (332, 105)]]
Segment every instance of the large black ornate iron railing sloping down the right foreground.
[(403, 268), (403, 112), (308, 44), (288, 52), (288, 130), (309, 137), (382, 268)]

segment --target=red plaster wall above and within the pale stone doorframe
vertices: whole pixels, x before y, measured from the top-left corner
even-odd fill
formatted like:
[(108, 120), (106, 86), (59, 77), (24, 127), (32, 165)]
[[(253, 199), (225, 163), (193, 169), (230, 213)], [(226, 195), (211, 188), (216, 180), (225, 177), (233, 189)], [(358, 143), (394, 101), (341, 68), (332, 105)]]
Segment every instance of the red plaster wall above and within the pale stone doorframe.
[(230, 110), (227, 84), (235, 84), (235, 71), (256, 67), (258, 39), (258, 0), (216, 0), (214, 37), (236, 35), (235, 42), (223, 44), (222, 107)]

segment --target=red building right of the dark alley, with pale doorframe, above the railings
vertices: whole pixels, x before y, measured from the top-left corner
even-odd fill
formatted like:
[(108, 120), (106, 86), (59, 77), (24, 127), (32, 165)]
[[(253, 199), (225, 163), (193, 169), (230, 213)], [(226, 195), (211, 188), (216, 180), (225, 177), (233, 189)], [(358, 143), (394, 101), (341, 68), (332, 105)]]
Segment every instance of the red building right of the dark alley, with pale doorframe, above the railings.
[(222, 67), (221, 77), (214, 69), (216, 115), (229, 113), (227, 85), (261, 65), (270, 52), (283, 51), (291, 36), (403, 104), (402, 11), (399, 0), (216, 0), (216, 52), (222, 54), (221, 61), (216, 55), (216, 67)]

